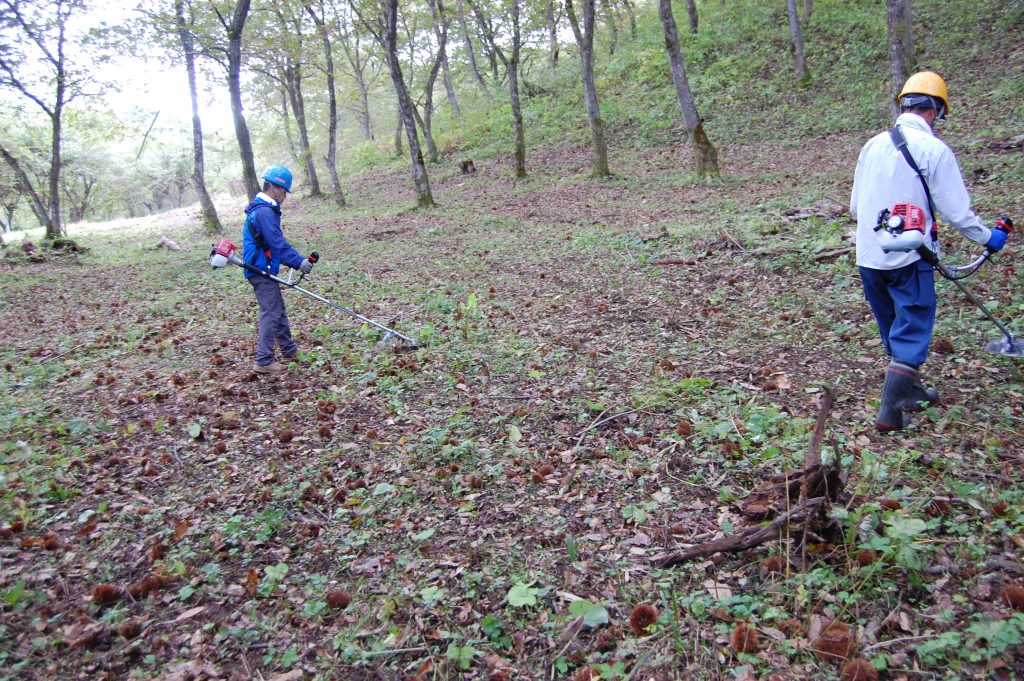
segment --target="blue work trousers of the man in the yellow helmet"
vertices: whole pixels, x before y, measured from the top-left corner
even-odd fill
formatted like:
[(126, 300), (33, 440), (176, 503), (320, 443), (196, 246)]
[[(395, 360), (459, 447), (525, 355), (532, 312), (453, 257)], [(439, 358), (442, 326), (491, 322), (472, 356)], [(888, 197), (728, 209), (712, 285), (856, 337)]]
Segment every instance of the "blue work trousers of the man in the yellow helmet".
[(935, 270), (919, 260), (898, 269), (860, 268), (864, 298), (896, 361), (920, 367), (935, 328)]

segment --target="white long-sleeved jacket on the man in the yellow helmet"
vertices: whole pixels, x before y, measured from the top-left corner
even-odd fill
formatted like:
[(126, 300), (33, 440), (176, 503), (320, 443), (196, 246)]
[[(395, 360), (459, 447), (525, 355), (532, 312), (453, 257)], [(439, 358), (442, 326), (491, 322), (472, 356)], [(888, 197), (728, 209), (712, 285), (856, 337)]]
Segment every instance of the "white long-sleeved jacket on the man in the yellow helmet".
[[(928, 181), (938, 216), (968, 239), (979, 244), (988, 243), (991, 231), (971, 210), (971, 197), (952, 150), (936, 137), (928, 121), (916, 114), (900, 114), (896, 125)], [(874, 238), (879, 212), (901, 202), (924, 209), (930, 233), (932, 216), (928, 214), (925, 188), (887, 130), (864, 144), (853, 178), (850, 212), (857, 219), (857, 264), (861, 267), (896, 269), (921, 259), (913, 251), (885, 253)], [(933, 244), (932, 248), (938, 251), (938, 244)]]

